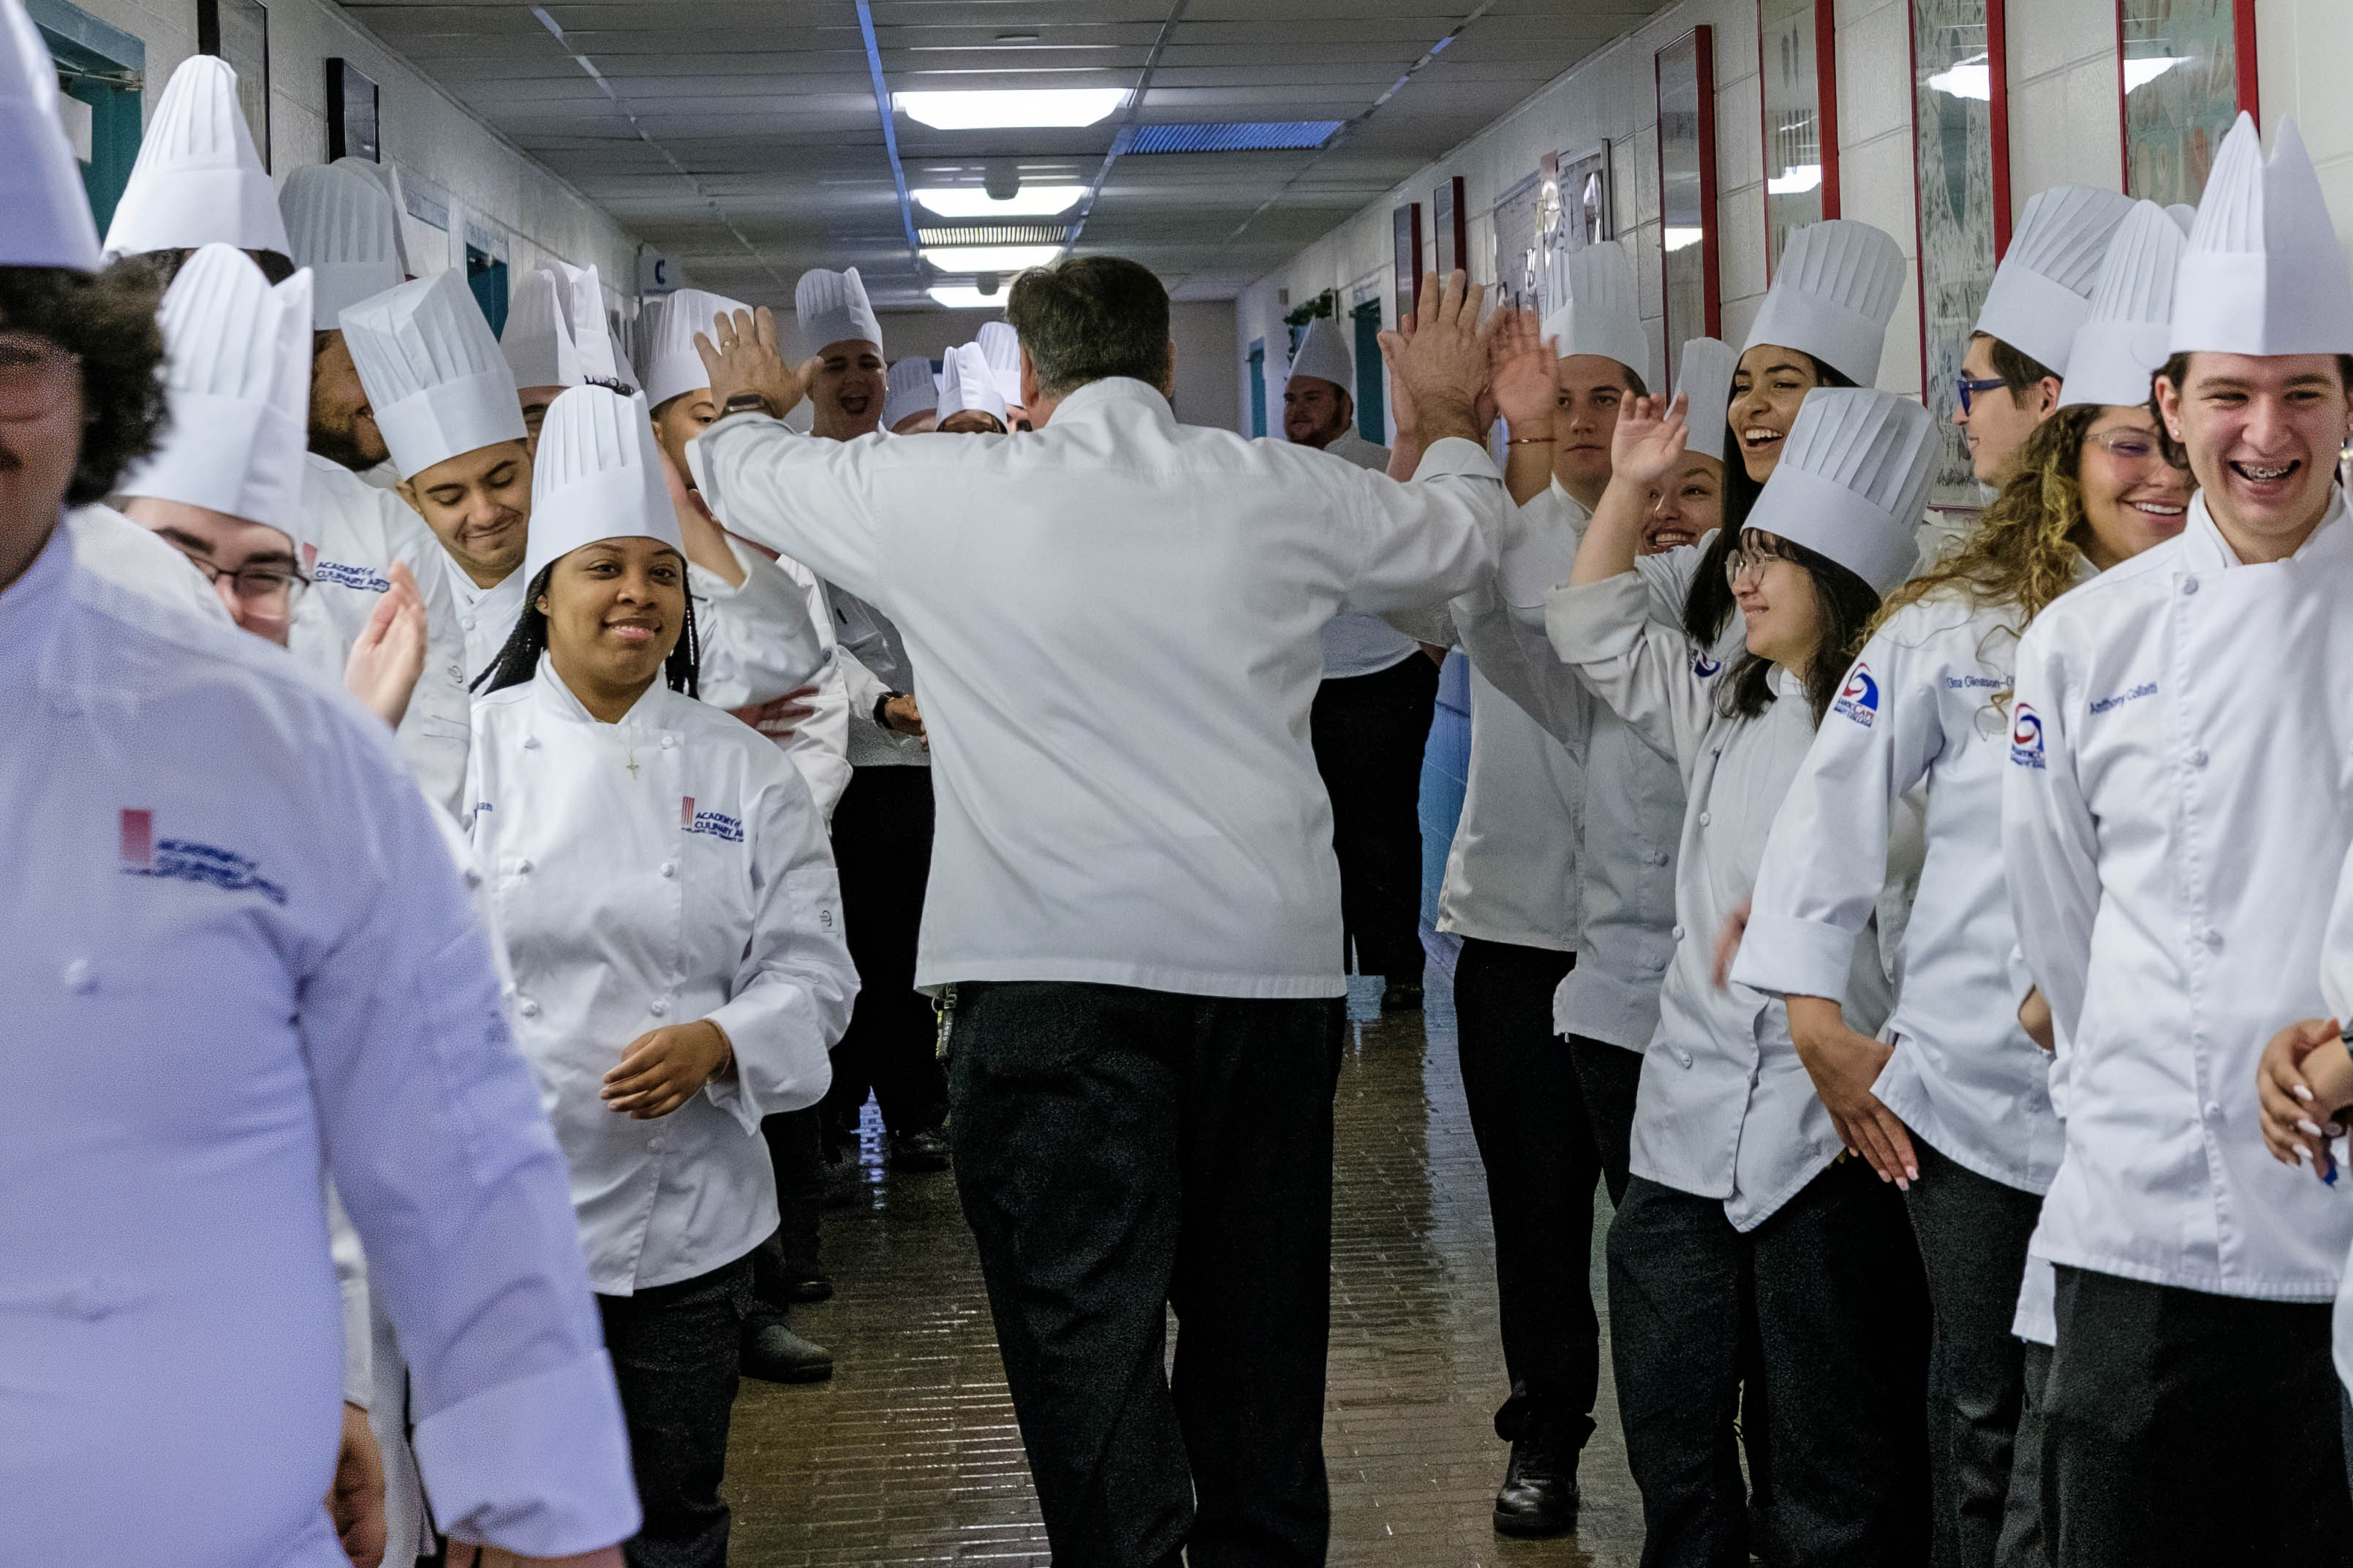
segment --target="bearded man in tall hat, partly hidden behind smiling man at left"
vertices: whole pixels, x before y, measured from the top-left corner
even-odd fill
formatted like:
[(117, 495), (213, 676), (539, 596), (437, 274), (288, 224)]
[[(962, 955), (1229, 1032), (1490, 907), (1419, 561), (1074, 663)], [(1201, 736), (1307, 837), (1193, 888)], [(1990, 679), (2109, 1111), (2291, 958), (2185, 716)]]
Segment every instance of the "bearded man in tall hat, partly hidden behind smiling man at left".
[(311, 409), (301, 475), (311, 592), (292, 646), (341, 670), (391, 590), (393, 567), (416, 583), (426, 665), (400, 717), (400, 750), (426, 795), (452, 813), (466, 785), (466, 635), (440, 543), (388, 489), (362, 480), (386, 461), (341, 315), (402, 282), (400, 214), (384, 186), (341, 165), (304, 165), (278, 195), (296, 266), (311, 270)]

